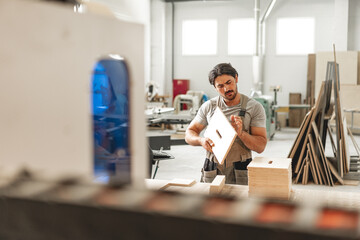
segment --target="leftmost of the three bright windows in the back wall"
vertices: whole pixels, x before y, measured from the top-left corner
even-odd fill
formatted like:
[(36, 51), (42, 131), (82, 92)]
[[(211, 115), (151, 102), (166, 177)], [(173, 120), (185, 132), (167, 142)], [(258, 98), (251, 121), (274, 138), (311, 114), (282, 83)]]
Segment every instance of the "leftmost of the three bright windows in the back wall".
[(216, 53), (216, 20), (183, 21), (182, 55), (215, 55)]

